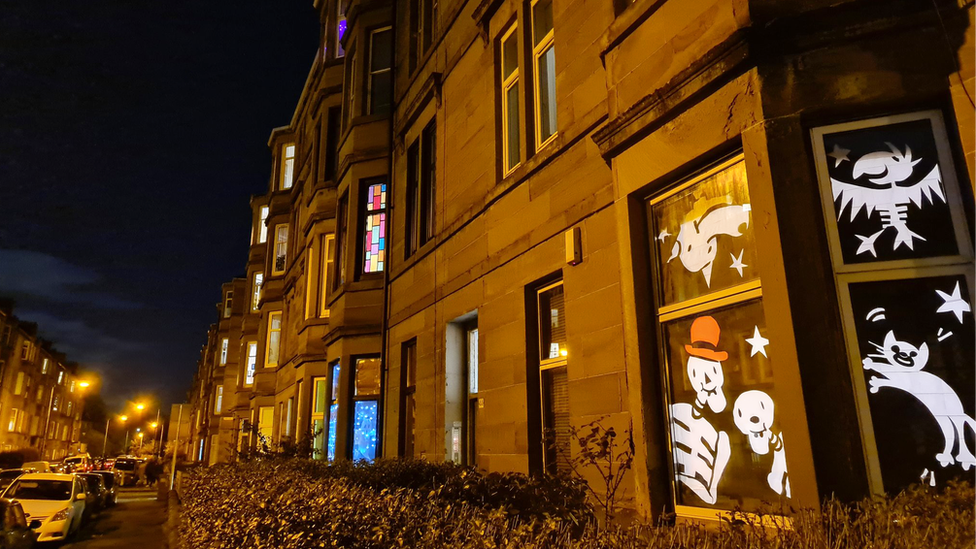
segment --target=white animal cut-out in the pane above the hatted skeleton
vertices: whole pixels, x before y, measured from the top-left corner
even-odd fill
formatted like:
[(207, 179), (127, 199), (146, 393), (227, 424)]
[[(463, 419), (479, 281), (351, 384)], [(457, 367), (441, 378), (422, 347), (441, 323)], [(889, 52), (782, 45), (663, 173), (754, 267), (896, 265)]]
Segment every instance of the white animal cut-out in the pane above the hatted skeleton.
[[(730, 198), (726, 200), (731, 202)], [(676, 257), (679, 258), (689, 272), (701, 272), (708, 287), (712, 285), (712, 263), (718, 253), (718, 236), (742, 236), (741, 227), (749, 226), (751, 206), (729, 202), (707, 208), (700, 216), (682, 223), (678, 240), (671, 248), (671, 257), (668, 258), (668, 263)], [(695, 211), (690, 215), (694, 215)]]

